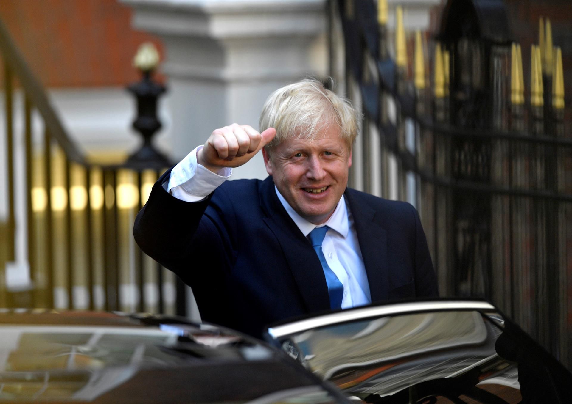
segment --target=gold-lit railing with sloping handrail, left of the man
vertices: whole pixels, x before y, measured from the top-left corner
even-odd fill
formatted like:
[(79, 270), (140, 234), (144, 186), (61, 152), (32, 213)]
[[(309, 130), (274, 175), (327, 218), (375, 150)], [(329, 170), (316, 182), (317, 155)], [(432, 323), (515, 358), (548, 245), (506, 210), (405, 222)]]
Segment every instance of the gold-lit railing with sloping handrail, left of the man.
[[(0, 52), (6, 155), (0, 193), (7, 206), (0, 217), (0, 308), (185, 315), (185, 286), (132, 236), (134, 217), (165, 167), (90, 163), (1, 21)], [(6, 282), (27, 268), (30, 282)]]

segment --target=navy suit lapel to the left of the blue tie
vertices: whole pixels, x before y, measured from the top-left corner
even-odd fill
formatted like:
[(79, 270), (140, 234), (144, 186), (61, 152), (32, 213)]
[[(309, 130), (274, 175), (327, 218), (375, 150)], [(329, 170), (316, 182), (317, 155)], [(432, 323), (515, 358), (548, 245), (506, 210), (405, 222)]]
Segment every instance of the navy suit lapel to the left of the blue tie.
[(260, 204), (267, 215), (264, 222), (280, 243), (308, 312), (329, 310), (328, 286), (320, 260), (280, 203), (272, 177), (260, 186)]

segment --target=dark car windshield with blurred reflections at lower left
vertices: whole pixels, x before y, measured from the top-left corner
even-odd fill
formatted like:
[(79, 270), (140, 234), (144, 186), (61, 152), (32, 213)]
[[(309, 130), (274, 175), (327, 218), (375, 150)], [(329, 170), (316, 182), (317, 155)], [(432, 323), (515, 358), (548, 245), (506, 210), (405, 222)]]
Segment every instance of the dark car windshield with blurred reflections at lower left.
[(339, 402), (268, 346), (208, 325), (0, 325), (0, 402), (181, 397), (189, 403)]

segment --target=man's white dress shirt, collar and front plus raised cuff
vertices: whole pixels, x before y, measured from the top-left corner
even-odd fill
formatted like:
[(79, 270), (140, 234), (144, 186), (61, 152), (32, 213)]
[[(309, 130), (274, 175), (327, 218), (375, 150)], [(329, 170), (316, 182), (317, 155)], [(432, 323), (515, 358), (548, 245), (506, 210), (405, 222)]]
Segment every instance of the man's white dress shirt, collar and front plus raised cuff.
[[(232, 168), (223, 168), (219, 174), (216, 174), (198, 164), (197, 151), (201, 147), (195, 148), (171, 171), (166, 190), (177, 199), (188, 202), (205, 199), (232, 174)], [(322, 242), (322, 251), (329, 268), (344, 286), (341, 308), (348, 309), (370, 304), (370, 285), (367, 281), (366, 267), (359, 248), (355, 223), (344, 196), (341, 196), (332, 216), (325, 223), (316, 226), (296, 213), (276, 186), (275, 190), (284, 209), (305, 237), (308, 237), (316, 227), (325, 225), (329, 227)]]

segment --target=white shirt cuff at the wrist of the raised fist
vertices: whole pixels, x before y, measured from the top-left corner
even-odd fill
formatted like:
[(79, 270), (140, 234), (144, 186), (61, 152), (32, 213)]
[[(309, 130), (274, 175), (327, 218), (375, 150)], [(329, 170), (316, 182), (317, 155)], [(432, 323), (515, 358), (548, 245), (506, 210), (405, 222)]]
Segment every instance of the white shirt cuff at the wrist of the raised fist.
[(223, 168), (218, 174), (197, 163), (196, 147), (171, 170), (167, 191), (177, 199), (198, 202), (215, 191), (232, 174), (232, 168)]

